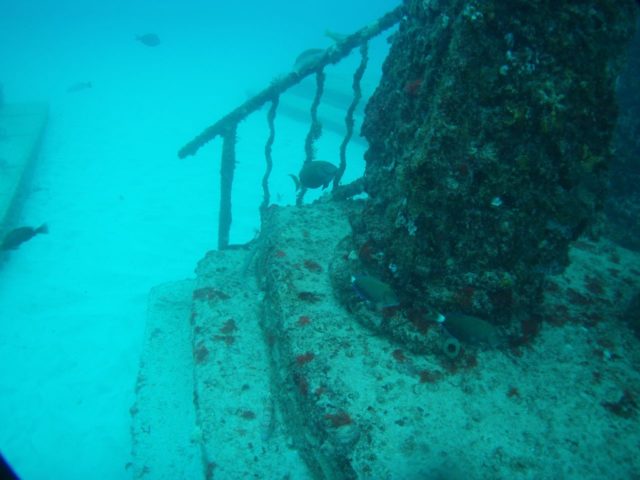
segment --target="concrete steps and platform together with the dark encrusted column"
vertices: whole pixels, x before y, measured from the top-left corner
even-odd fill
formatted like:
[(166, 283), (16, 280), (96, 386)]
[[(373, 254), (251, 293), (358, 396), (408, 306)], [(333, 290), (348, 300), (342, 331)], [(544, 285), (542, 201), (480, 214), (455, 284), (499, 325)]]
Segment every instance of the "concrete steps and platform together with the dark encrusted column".
[(151, 292), (134, 478), (637, 475), (618, 316), (640, 254), (572, 242), (603, 201), (635, 5), (508, 5), (406, 1), (366, 110), (369, 198), (265, 206), (254, 242)]

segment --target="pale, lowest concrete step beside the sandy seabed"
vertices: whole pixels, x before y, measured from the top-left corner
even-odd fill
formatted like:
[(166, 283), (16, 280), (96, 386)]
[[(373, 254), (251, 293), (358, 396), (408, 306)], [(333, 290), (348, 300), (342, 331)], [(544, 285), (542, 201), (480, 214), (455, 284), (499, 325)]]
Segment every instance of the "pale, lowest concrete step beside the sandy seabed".
[(193, 404), (191, 296), (194, 281), (151, 290), (145, 342), (131, 407), (134, 478), (204, 478)]

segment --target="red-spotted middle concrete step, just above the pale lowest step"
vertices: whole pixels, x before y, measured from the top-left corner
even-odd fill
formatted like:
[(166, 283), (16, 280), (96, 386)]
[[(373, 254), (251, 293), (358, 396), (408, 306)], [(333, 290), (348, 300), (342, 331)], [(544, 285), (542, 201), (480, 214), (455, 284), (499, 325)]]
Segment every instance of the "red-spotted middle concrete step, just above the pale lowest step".
[(310, 478), (283, 427), (251, 252), (209, 252), (193, 292), (194, 401), (207, 479)]

